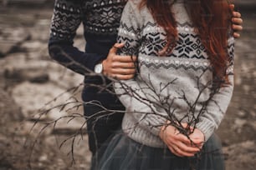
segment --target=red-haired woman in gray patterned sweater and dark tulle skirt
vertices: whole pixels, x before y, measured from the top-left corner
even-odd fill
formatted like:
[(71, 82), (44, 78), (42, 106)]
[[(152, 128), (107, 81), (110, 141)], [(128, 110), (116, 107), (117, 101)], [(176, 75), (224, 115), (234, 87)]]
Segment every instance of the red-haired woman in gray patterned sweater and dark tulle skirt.
[(233, 37), (224, 0), (131, 0), (120, 51), (138, 75), (115, 83), (122, 133), (94, 169), (224, 169), (214, 131), (233, 93)]

